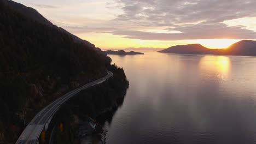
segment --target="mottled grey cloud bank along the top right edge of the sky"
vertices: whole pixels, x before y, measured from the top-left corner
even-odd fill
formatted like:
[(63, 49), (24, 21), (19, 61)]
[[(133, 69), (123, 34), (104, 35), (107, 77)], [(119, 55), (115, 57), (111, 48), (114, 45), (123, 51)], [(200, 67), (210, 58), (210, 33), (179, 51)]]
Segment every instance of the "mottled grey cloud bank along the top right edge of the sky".
[[(241, 0), (118, 0), (124, 14), (118, 20), (141, 17), (148, 22), (162, 20), (169, 23), (215, 21), (255, 16), (256, 1)], [(123, 19), (126, 17), (126, 19)]]

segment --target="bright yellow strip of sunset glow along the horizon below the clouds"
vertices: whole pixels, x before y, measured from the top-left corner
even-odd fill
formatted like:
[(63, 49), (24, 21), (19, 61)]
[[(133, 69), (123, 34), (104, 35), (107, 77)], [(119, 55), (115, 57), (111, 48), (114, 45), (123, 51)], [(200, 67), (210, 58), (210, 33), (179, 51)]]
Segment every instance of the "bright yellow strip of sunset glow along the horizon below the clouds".
[(174, 45), (201, 44), (210, 49), (223, 49), (240, 41), (239, 39), (195, 39), (195, 40), (142, 40), (127, 39), (109, 33), (80, 33), (78, 37), (96, 44), (102, 49), (125, 49), (126, 47), (168, 48)]

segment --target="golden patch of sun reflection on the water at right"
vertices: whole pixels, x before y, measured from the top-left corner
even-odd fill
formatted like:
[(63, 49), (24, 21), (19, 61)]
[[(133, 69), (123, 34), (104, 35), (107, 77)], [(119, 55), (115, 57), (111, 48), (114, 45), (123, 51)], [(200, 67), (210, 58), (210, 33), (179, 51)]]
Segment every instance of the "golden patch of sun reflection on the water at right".
[(200, 60), (200, 68), (207, 74), (224, 78), (230, 71), (230, 59), (226, 56), (204, 56)]

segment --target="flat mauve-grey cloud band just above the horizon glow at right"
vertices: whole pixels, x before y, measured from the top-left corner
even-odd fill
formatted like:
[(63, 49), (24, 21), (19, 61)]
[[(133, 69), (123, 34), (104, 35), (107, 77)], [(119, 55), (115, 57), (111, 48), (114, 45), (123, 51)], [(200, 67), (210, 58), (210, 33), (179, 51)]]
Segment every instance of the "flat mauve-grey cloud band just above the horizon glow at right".
[(144, 40), (192, 40), (192, 39), (256, 39), (256, 33), (243, 27), (227, 27), (224, 23), (170, 28), (170, 31), (182, 33), (152, 33), (143, 31), (112, 31), (114, 35), (124, 35), (124, 38)]

